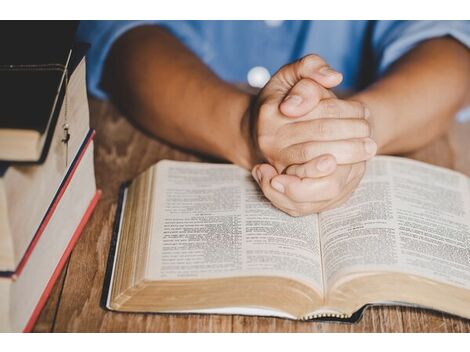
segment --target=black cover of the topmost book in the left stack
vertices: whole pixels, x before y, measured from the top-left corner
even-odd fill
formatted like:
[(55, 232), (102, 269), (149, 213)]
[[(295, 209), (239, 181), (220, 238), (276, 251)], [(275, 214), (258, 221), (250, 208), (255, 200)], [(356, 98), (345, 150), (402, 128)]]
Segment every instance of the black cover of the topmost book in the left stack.
[[(0, 22), (0, 129), (52, 133), (78, 21)], [(48, 143), (40, 160), (45, 159)]]

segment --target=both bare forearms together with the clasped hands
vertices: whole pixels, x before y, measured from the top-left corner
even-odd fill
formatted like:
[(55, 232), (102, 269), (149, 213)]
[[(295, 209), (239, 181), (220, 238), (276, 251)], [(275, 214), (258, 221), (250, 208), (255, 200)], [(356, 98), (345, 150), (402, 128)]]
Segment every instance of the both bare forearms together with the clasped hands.
[(469, 51), (451, 38), (432, 39), (347, 99), (331, 92), (340, 81), (310, 55), (253, 96), (155, 26), (118, 39), (104, 73), (112, 99), (143, 128), (252, 169), (265, 196), (294, 216), (346, 200), (376, 152), (409, 152), (443, 133), (470, 100)]

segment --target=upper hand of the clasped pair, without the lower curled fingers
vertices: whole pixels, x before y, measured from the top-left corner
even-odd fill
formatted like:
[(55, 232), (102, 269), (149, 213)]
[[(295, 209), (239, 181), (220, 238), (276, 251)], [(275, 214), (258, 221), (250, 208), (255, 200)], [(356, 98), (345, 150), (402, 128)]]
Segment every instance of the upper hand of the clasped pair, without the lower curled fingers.
[(333, 155), (338, 164), (354, 164), (375, 155), (366, 107), (338, 99), (324, 88), (338, 85), (341, 79), (316, 55), (281, 68), (255, 104), (253, 134), (260, 159), (283, 173), (290, 165), (324, 154)]

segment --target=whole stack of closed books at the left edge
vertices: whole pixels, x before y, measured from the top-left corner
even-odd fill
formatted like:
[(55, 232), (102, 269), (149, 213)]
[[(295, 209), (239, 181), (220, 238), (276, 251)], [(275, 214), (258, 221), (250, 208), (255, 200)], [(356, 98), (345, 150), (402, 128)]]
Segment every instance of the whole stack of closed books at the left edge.
[(30, 331), (100, 192), (76, 22), (0, 24), (0, 331)]

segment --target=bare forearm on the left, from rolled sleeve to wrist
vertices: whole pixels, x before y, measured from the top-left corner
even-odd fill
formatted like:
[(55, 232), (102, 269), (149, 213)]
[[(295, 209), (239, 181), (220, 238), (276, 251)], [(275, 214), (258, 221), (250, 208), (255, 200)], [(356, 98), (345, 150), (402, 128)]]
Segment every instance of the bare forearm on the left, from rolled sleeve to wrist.
[(183, 148), (251, 167), (249, 96), (221, 81), (170, 33), (139, 27), (111, 50), (105, 88), (130, 118)]

